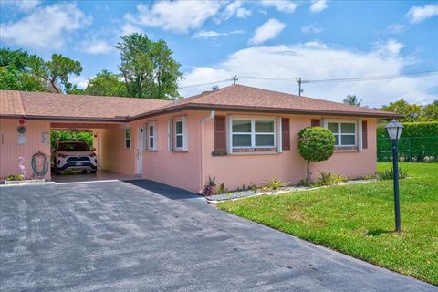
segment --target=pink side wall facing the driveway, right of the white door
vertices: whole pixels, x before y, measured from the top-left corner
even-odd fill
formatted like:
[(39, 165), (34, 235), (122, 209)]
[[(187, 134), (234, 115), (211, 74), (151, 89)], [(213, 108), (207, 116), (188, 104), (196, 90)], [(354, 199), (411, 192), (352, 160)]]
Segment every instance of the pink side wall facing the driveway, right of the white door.
[[(201, 120), (208, 114), (206, 111), (191, 110), (136, 121), (137, 127), (146, 122), (156, 122), (158, 133), (157, 151), (143, 151), (143, 177), (198, 192), (201, 184)], [(187, 117), (188, 151), (169, 151), (168, 120), (182, 116)]]

